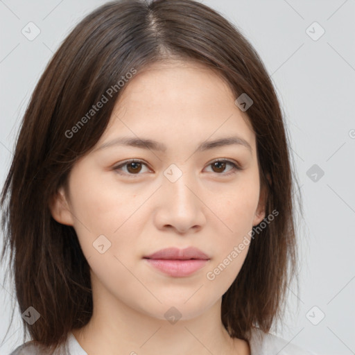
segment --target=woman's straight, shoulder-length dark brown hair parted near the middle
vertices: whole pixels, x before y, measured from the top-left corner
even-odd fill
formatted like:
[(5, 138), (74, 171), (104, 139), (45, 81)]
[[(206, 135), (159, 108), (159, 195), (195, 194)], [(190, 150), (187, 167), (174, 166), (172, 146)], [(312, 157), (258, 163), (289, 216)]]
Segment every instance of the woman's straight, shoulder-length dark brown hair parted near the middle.
[[(124, 0), (106, 3), (85, 17), (53, 55), (21, 123), (1, 195), (5, 243), (10, 248), (21, 312), (41, 317), (31, 339), (50, 348), (83, 327), (92, 315), (89, 265), (73, 227), (57, 223), (49, 201), (66, 184), (73, 164), (103, 134), (117, 98), (78, 126), (132, 68), (160, 60), (195, 60), (217, 71), (237, 98), (254, 104), (248, 119), (257, 138), (266, 216), (275, 220), (252, 239), (243, 267), (223, 295), (221, 318), (231, 337), (249, 340), (252, 327), (269, 331), (282, 315), (286, 288), (297, 270), (293, 173), (286, 128), (275, 89), (259, 55), (235, 26), (193, 0)], [(129, 85), (129, 84), (128, 84)], [(75, 138), (69, 137), (73, 127)], [(266, 177), (269, 177), (270, 180)], [(12, 314), (13, 315), (13, 314)]]

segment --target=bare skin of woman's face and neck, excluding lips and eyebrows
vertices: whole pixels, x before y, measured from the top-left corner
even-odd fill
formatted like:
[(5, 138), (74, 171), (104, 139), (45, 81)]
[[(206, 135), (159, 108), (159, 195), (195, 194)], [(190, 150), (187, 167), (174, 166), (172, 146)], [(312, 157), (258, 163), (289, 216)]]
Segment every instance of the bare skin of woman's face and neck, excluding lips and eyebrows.
[[(139, 71), (98, 144), (73, 166), (68, 189), (53, 199), (53, 218), (74, 227), (91, 268), (92, 319), (73, 330), (87, 354), (250, 354), (248, 343), (230, 338), (220, 320), (222, 295), (248, 245), (207, 279), (265, 217), (256, 137), (234, 100), (225, 81), (201, 64), (171, 60)], [(99, 149), (123, 136), (153, 139), (166, 150)], [(196, 151), (203, 141), (231, 136), (248, 141), (251, 151), (238, 144)], [(114, 170), (127, 159), (143, 164)], [(214, 159), (243, 170), (214, 167)], [(182, 173), (175, 182), (164, 175), (171, 164)], [(102, 234), (111, 243), (103, 254), (93, 247)], [(165, 275), (142, 259), (189, 246), (210, 259), (188, 277)], [(172, 306), (181, 313), (175, 324), (164, 317)]]

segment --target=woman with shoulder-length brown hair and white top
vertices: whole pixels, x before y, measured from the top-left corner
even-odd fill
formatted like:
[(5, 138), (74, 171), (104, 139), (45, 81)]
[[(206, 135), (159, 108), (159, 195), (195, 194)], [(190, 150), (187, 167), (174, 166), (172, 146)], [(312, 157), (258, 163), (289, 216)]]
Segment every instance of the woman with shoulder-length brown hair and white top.
[(2, 193), (12, 354), (309, 354), (269, 333), (296, 271), (266, 69), (191, 0), (89, 14), (33, 93)]

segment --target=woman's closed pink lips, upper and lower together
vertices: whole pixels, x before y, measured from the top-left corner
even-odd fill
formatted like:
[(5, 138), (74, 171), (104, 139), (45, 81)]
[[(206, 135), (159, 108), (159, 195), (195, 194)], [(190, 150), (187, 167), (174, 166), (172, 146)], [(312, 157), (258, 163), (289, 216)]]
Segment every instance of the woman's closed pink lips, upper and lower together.
[(197, 248), (166, 248), (144, 259), (153, 267), (173, 277), (191, 275), (209, 261), (209, 257)]

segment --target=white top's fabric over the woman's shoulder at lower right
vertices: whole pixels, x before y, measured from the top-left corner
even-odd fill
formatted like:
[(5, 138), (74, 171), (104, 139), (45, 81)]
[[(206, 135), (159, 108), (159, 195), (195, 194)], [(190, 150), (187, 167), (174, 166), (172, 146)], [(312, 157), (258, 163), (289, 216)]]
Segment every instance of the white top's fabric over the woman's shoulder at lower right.
[(316, 355), (258, 328), (252, 330), (250, 352), (251, 355)]

